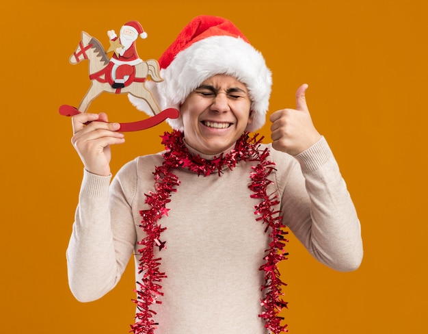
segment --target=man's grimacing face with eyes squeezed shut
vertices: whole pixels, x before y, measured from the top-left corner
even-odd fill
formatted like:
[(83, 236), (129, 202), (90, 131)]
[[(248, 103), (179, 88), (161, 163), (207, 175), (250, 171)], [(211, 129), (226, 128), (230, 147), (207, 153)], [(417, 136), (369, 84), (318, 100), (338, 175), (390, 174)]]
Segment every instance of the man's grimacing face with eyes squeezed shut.
[(251, 101), (245, 84), (229, 75), (214, 75), (180, 106), (185, 141), (205, 154), (230, 149), (248, 124)]

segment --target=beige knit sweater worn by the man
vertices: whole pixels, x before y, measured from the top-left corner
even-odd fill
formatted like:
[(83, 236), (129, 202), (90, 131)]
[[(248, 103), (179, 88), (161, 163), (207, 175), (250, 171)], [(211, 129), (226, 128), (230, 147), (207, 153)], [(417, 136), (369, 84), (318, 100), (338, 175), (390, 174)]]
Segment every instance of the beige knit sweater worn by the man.
[[(324, 138), (291, 157), (270, 149), (276, 163), (269, 193), (281, 198), (284, 223), (319, 261), (335, 270), (355, 270), (362, 260), (360, 223)], [(88, 302), (118, 283), (132, 257), (136, 264), (139, 211), (154, 191), (154, 166), (161, 154), (137, 157), (110, 177), (84, 172), (79, 205), (67, 250), (72, 293)], [(155, 305), (157, 334), (264, 334), (260, 286), (263, 255), (269, 248), (265, 226), (256, 222), (250, 198), (250, 166), (198, 177), (174, 170), (180, 179), (159, 220), (167, 230), (161, 271), (166, 272), (162, 304)], [(136, 279), (139, 280), (137, 272)], [(131, 289), (131, 287), (130, 287)]]

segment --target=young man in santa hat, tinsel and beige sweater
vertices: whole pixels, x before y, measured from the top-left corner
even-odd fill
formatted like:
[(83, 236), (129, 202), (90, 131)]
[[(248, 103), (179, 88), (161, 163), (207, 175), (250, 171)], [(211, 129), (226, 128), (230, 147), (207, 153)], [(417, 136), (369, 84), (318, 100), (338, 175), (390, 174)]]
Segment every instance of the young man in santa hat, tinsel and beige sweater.
[(180, 112), (165, 152), (137, 157), (110, 185), (120, 125), (103, 113), (72, 119), (85, 170), (70, 288), (81, 301), (101, 298), (134, 257), (134, 333), (279, 334), (285, 225), (331, 268), (355, 270), (362, 259), (360, 223), (312, 124), (307, 86), (295, 110), (271, 114), (273, 142), (260, 144), (248, 131), (265, 123), (271, 73), (230, 21), (193, 19), (159, 64), (164, 81), (150, 89), (162, 109)]

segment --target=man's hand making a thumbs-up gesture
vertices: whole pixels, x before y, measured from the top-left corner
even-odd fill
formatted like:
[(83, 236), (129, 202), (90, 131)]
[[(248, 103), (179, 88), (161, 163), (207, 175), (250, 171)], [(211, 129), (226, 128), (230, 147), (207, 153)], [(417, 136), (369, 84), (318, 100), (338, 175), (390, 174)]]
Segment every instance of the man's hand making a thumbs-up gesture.
[(296, 109), (283, 109), (269, 117), (271, 121), (271, 139), (273, 149), (297, 155), (315, 144), (321, 135), (315, 129), (306, 105), (305, 92), (307, 84), (303, 84), (296, 92)]

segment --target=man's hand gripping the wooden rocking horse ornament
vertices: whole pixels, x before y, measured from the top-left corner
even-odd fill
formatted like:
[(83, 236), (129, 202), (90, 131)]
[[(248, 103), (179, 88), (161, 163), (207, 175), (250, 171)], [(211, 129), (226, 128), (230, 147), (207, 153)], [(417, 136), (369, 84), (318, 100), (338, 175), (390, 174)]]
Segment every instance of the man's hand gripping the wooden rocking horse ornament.
[(124, 134), (118, 132), (120, 125), (107, 122), (107, 115), (103, 112), (81, 113), (72, 117), (71, 142), (85, 169), (101, 176), (110, 175), (110, 145), (122, 144), (125, 141)]

